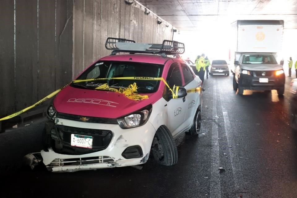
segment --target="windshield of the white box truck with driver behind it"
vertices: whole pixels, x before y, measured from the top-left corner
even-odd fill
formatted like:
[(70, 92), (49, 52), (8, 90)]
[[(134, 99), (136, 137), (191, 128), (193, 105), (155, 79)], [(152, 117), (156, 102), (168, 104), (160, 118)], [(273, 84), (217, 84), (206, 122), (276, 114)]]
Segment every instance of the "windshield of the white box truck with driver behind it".
[(243, 64), (277, 64), (271, 54), (248, 54), (243, 55)]

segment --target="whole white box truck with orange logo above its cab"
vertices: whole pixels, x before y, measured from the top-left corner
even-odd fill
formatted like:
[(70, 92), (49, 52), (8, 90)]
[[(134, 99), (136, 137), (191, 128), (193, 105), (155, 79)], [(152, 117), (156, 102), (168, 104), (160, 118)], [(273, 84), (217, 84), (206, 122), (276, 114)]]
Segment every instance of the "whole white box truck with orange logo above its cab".
[(283, 95), (285, 74), (276, 61), (282, 49), (283, 20), (238, 20), (231, 24), (233, 89), (272, 90)]

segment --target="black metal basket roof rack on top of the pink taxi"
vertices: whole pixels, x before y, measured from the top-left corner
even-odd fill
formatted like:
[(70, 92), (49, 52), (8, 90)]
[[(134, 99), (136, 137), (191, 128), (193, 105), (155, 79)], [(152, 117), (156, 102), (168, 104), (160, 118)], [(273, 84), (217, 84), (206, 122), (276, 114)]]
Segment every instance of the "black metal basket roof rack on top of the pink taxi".
[(161, 54), (165, 56), (174, 55), (179, 57), (178, 54), (183, 54), (185, 52), (185, 44), (178, 41), (164, 40), (162, 44), (149, 44), (136, 43), (133, 40), (111, 37), (107, 38), (105, 48), (113, 50), (111, 54), (128, 52), (130, 54)]

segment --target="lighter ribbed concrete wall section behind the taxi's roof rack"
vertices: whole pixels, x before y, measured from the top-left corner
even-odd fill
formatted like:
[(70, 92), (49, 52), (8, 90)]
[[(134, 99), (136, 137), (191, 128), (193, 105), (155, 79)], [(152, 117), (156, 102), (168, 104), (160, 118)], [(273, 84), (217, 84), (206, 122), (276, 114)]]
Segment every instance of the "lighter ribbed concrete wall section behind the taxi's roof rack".
[[(92, 62), (107, 56), (107, 37), (157, 43), (171, 40), (172, 26), (157, 24), (157, 16), (146, 15), (141, 4), (125, 0), (74, 0), (73, 78)], [(148, 11), (147, 11), (148, 12)], [(168, 26), (168, 27), (166, 27)]]

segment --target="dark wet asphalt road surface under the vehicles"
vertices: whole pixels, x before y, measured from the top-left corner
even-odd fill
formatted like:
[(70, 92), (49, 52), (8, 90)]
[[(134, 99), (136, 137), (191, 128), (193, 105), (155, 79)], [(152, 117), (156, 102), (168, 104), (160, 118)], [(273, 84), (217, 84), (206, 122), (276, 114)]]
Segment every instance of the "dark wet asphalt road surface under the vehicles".
[(176, 140), (179, 161), (171, 167), (149, 159), (142, 170), (32, 171), (21, 166), (22, 157), (40, 150), (44, 120), (0, 134), (0, 197), (297, 197), (291, 78), (284, 97), (276, 91), (239, 96), (232, 78), (205, 79), (201, 133)]

